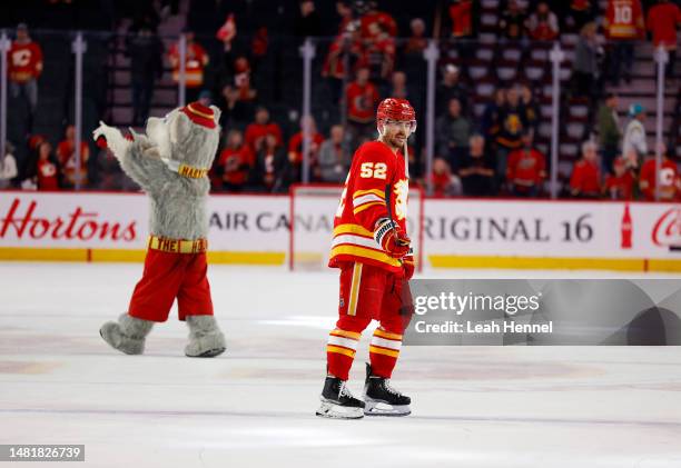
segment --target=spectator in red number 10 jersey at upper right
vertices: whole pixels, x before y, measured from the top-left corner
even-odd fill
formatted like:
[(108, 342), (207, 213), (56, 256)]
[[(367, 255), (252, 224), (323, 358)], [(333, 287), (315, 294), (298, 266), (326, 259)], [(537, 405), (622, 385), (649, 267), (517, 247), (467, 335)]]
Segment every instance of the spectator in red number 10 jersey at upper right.
[(620, 84), (620, 78), (631, 82), (634, 43), (645, 36), (642, 11), (640, 0), (608, 1), (603, 29), (611, 42), (609, 76), (614, 86)]

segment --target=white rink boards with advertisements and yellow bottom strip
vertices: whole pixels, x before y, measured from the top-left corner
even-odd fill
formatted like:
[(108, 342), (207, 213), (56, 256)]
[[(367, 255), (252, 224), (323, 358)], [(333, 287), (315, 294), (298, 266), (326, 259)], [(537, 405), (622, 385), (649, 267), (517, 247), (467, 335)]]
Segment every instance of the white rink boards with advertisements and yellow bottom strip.
[[(329, 201), (335, 209), (335, 201)], [(330, 240), (326, 203), (296, 229)], [(625, 211), (629, 210), (628, 221)], [(149, 206), (141, 193), (6, 191), (0, 259), (141, 261)], [(333, 212), (333, 211), (332, 211)], [(209, 260), (285, 268), (288, 196), (211, 196)], [(631, 229), (628, 229), (631, 225)], [(681, 206), (614, 201), (426, 199), (426, 268), (681, 271)]]

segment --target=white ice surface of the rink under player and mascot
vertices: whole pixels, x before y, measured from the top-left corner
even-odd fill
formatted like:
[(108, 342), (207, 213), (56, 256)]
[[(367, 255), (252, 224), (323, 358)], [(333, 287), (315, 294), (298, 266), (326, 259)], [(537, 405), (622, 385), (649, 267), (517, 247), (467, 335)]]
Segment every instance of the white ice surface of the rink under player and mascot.
[(412, 416), (325, 420), (336, 276), (211, 266), (228, 350), (189, 359), (175, 312), (145, 356), (100, 339), (140, 273), (0, 263), (0, 444), (85, 444), (79, 467), (681, 467), (679, 348), (405, 347), (393, 385)]

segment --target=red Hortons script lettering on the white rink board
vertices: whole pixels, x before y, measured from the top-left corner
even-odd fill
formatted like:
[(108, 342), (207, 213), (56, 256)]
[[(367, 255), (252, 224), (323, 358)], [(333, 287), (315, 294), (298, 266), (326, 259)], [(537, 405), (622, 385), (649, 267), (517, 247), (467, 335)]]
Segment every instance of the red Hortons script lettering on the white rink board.
[(135, 221), (125, 226), (102, 221), (98, 219), (99, 213), (86, 212), (81, 207), (76, 207), (66, 217), (50, 219), (36, 215), (38, 202), (34, 200), (26, 208), (20, 205), (21, 200), (16, 198), (9, 211), (0, 219), (0, 239), (16, 236), (17, 239), (101, 239), (129, 242), (137, 237)]

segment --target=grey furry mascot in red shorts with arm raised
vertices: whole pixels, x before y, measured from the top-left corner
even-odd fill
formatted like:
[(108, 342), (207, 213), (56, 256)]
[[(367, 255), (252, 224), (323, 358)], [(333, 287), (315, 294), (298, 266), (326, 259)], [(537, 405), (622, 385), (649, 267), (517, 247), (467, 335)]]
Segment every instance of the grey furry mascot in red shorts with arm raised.
[(189, 326), (185, 355), (214, 357), (225, 337), (213, 316), (206, 277), (208, 169), (220, 138), (220, 111), (199, 102), (150, 118), (146, 135), (131, 139), (103, 122), (93, 131), (122, 170), (149, 195), (149, 242), (141, 280), (128, 312), (99, 330), (111, 347), (140, 355), (155, 322), (168, 319), (177, 298), (179, 319)]

